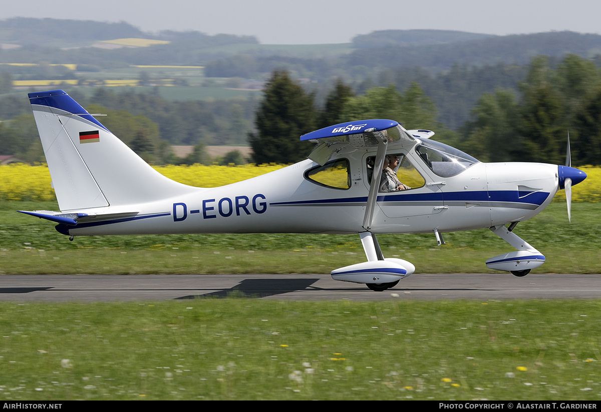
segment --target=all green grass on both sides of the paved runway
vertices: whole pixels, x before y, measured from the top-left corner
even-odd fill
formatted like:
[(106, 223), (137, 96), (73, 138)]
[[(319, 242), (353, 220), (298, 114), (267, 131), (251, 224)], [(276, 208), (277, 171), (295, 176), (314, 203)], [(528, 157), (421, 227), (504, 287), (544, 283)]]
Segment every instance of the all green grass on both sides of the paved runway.
[[(537, 272), (600, 273), (599, 203), (516, 227)], [(365, 260), (356, 235), (77, 237), (0, 202), (0, 273), (317, 273)], [(416, 274), (487, 272), (511, 250), (486, 229), (382, 235)], [(177, 276), (177, 275), (174, 275)], [(415, 275), (414, 275), (415, 276)], [(2, 277), (0, 276), (0, 282)], [(508, 399), (601, 396), (599, 300), (295, 302), (242, 298), (0, 303), (0, 397), (63, 399)]]

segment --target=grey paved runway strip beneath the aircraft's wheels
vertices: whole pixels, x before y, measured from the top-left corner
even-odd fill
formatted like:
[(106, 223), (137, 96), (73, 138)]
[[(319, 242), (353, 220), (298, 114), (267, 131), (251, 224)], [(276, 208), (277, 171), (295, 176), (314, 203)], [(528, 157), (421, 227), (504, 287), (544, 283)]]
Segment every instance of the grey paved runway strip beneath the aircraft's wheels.
[(413, 274), (374, 292), (329, 274), (4, 275), (4, 301), (125, 301), (227, 297), (288, 300), (600, 298), (599, 274)]

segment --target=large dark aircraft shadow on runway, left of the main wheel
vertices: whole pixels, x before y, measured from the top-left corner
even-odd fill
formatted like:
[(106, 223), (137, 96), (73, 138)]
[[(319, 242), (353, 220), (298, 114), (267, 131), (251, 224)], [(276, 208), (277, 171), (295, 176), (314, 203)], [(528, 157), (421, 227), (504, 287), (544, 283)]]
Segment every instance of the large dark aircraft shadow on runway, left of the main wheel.
[(317, 279), (245, 279), (228, 289), (201, 294), (187, 295), (176, 299), (195, 299), (204, 297), (267, 297), (307, 289)]

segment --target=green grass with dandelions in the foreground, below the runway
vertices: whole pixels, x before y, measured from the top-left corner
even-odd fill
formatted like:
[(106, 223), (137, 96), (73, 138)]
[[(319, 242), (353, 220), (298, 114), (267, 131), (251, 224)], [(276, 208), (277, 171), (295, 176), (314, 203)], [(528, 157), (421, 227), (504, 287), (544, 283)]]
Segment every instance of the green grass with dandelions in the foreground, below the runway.
[(0, 397), (597, 400), (601, 301), (0, 303)]

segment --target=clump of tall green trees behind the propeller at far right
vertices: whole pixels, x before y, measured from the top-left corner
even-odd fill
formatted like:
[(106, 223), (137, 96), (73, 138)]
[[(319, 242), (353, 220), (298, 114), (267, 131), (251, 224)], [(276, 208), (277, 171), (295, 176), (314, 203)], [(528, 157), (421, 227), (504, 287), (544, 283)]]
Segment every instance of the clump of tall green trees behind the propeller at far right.
[(576, 55), (532, 59), (519, 89), (483, 94), (460, 130), (460, 147), (481, 160), (601, 164), (601, 71)]

